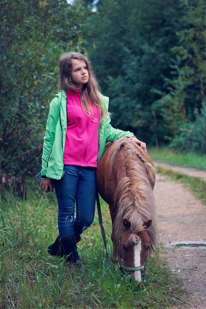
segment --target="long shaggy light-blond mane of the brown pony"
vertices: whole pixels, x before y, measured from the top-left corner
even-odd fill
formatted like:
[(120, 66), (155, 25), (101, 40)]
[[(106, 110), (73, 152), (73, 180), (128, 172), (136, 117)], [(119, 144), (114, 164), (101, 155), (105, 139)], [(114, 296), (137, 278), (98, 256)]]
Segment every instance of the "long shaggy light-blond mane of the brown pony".
[[(122, 232), (124, 231), (123, 219), (127, 218), (131, 222), (131, 230), (142, 231), (143, 221), (152, 219), (152, 225), (148, 232), (152, 246), (156, 243), (156, 207), (152, 186), (149, 179), (155, 178), (155, 168), (138, 153), (138, 146), (132, 140), (123, 138), (117, 140), (112, 147), (108, 158), (107, 166), (112, 166), (121, 148), (124, 147), (125, 177), (122, 178), (115, 192), (114, 200), (117, 205), (117, 216), (114, 222), (116, 231), (114, 244), (117, 245)], [(143, 170), (143, 163), (147, 174)], [(131, 239), (134, 241), (134, 234)]]

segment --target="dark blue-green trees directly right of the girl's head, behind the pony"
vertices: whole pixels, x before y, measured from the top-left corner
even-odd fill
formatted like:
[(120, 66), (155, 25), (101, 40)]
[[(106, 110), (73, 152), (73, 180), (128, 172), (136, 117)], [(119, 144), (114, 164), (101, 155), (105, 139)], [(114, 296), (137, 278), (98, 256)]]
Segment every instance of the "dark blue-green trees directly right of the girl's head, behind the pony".
[[(87, 41), (93, 48), (90, 59), (111, 98), (113, 124), (132, 130), (147, 143), (157, 140), (159, 115), (153, 103), (161, 98), (163, 77), (170, 78), (168, 64), (182, 14), (179, 1), (101, 0), (90, 18), (94, 26)], [(164, 132), (157, 131), (162, 139)]]

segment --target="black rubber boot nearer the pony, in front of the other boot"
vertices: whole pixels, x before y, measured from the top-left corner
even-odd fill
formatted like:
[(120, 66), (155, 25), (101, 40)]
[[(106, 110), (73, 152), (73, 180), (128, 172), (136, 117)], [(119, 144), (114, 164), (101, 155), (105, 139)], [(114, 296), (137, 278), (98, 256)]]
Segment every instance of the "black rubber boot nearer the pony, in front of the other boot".
[(61, 239), (61, 245), (63, 247), (64, 254), (68, 256), (67, 262), (75, 264), (77, 267), (81, 267), (75, 236)]

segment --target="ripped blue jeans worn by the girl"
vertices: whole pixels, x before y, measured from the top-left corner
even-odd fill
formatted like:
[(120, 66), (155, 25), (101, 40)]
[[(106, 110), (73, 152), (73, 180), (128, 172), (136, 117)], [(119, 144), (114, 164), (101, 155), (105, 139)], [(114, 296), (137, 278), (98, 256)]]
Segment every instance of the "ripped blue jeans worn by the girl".
[(76, 239), (80, 239), (80, 234), (94, 220), (96, 168), (64, 165), (62, 179), (53, 183), (59, 206), (59, 236), (67, 238), (75, 235)]

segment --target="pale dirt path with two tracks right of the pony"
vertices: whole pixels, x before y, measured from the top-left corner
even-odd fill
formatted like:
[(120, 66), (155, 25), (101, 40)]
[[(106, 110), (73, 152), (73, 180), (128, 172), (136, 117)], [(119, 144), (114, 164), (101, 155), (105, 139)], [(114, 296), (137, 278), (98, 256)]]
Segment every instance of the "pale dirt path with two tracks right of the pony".
[[(206, 180), (206, 172), (155, 163)], [(206, 205), (181, 184), (157, 174), (155, 198), (159, 242), (165, 247), (168, 267), (181, 278), (185, 295), (181, 309), (206, 309)], [(174, 245), (178, 245), (174, 247)], [(184, 245), (183, 245), (184, 244)]]

